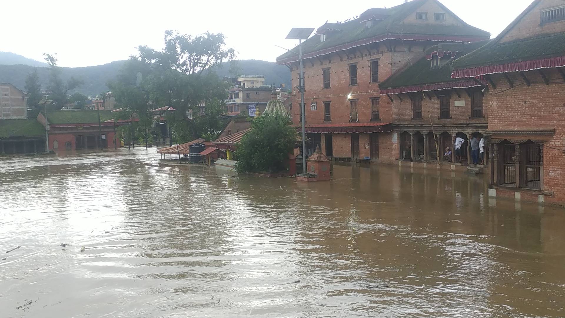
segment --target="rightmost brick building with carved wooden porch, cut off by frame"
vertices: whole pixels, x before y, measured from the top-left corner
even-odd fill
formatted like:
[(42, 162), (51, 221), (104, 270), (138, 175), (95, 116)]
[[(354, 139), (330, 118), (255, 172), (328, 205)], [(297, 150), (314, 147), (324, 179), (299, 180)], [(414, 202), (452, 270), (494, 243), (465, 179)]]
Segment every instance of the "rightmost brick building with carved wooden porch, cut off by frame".
[(533, 1), (452, 76), (486, 81), (489, 195), (565, 205), (565, 2)]

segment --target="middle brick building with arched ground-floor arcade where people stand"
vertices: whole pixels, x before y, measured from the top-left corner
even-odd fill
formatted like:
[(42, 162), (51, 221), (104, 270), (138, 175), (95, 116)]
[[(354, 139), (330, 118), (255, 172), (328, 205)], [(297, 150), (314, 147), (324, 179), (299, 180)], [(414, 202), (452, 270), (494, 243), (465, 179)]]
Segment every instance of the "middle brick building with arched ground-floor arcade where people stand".
[[(472, 135), (480, 139), (488, 128), (483, 110), (487, 82), (453, 79), (451, 64), (487, 42), (434, 45), (424, 57), (379, 84), (380, 93), (392, 103), (393, 140), (397, 140), (397, 147), (381, 162), (399, 159), (420, 167), (440, 164), (449, 170), (464, 170), (463, 165), (472, 163), (468, 140)], [(461, 156), (456, 158), (452, 151), (445, 158), (445, 149), (453, 149), (456, 136), (465, 140)]]

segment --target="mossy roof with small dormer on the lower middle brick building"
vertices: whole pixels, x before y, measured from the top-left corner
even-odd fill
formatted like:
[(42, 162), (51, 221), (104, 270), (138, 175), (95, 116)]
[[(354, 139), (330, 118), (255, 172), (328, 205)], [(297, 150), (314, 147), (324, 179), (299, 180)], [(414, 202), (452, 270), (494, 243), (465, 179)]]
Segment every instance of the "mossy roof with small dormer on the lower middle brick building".
[[(441, 49), (444, 51), (457, 51), (458, 56), (462, 56), (471, 52), (481, 46), (485, 45), (487, 41), (472, 42), (466, 44), (441, 44)], [(426, 51), (426, 55), (437, 51), (438, 46), (434, 45)], [(444, 58), (449, 58), (444, 55)], [(451, 78), (451, 63), (445, 63), (440, 68), (430, 68), (430, 61), (427, 57), (419, 59), (414, 65), (403, 68), (385, 79), (379, 84), (381, 89), (407, 87), (423, 84), (447, 83), (449, 81), (460, 81), (461, 79)]]

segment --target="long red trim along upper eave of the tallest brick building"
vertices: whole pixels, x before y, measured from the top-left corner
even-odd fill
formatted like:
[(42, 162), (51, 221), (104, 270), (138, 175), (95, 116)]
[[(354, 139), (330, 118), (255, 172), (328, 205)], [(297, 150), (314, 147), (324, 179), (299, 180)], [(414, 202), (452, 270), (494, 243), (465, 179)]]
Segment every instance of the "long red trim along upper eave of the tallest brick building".
[[(324, 50), (318, 50), (311, 53), (303, 54), (302, 58), (313, 58), (320, 55), (325, 55), (329, 53), (334, 53), (336, 51), (342, 51), (354, 48), (355, 46), (371, 44), (375, 42), (380, 42), (384, 40), (413, 40), (413, 41), (451, 41), (451, 42), (476, 42), (484, 40), (484, 36), (441, 36), (441, 35), (380, 35), (375, 37), (363, 38), (361, 40), (350, 42), (342, 45), (333, 46), (333, 48), (328, 48)], [(281, 59), (277, 61), (277, 64), (286, 64), (297, 62), (298, 57), (289, 57), (286, 59)]]

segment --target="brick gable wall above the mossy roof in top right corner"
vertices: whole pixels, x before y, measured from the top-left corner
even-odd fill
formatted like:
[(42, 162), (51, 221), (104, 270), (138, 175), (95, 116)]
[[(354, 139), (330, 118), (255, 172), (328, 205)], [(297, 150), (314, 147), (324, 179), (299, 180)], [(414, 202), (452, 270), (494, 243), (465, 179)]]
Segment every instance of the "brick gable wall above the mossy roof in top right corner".
[(541, 24), (541, 10), (563, 6), (563, 0), (544, 0), (526, 14), (501, 42), (519, 40), (520, 38), (532, 37), (540, 34), (551, 34), (565, 30), (565, 20)]

